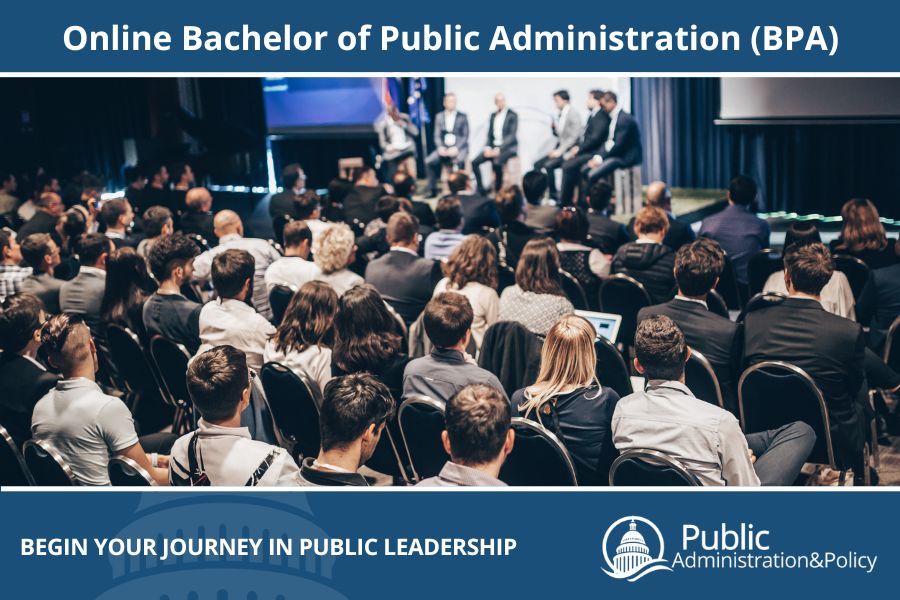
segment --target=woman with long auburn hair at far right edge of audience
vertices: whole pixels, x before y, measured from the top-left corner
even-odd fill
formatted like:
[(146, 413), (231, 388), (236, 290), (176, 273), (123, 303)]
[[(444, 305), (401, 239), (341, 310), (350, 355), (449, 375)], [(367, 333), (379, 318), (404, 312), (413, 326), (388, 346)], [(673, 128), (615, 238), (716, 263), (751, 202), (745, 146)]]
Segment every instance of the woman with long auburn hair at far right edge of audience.
[(841, 236), (831, 243), (835, 254), (855, 256), (870, 269), (889, 267), (898, 262), (893, 240), (888, 240), (878, 209), (871, 200), (854, 198), (841, 208), (844, 222)]

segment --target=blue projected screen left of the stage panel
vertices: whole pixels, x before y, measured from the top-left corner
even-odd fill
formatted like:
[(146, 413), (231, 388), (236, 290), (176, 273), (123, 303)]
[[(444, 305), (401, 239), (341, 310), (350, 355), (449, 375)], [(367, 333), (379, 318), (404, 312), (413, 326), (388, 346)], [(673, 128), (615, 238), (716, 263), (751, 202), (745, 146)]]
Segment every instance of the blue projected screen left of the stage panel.
[(266, 77), (270, 133), (371, 132), (384, 111), (382, 77)]

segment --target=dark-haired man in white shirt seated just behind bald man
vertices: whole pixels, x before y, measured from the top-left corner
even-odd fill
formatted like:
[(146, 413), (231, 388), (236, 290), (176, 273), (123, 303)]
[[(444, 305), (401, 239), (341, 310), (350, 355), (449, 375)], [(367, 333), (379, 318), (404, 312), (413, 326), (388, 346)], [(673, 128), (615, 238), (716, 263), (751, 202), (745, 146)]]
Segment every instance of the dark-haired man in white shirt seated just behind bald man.
[(253, 256), (246, 250), (232, 248), (213, 258), (213, 287), (219, 297), (200, 310), (199, 352), (228, 344), (244, 352), (250, 368), (259, 371), (275, 328), (247, 304), (253, 271)]

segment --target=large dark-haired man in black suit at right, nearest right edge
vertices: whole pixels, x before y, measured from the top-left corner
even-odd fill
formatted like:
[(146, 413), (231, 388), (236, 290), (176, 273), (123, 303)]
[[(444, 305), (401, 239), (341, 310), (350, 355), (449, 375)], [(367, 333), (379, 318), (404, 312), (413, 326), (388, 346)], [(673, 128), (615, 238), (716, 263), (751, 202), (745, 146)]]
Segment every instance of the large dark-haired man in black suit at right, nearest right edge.
[[(822, 390), (836, 450), (861, 480), (867, 404), (865, 336), (862, 327), (825, 311), (822, 288), (834, 273), (828, 249), (819, 243), (788, 248), (784, 280), (789, 297), (750, 312), (745, 320), (744, 358), (752, 365), (783, 360), (806, 371)], [(790, 398), (783, 401), (789, 402)]]

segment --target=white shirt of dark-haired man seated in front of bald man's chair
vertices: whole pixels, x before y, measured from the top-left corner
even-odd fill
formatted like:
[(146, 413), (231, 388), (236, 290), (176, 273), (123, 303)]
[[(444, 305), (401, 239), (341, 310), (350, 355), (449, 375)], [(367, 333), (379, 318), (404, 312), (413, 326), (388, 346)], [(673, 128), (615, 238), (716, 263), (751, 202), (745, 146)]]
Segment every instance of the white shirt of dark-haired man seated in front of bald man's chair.
[(200, 309), (200, 348), (228, 344), (247, 355), (247, 365), (256, 371), (263, 366), (263, 350), (275, 327), (262, 315), (239, 300), (222, 299), (207, 302)]

